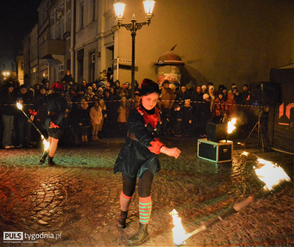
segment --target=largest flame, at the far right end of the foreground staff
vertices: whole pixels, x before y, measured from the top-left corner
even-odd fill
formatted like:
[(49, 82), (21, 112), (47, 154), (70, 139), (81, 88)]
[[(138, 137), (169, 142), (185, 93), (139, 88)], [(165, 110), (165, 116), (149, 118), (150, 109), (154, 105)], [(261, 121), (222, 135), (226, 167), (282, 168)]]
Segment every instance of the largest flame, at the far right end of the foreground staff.
[(255, 168), (255, 173), (258, 178), (265, 183), (265, 187), (268, 190), (273, 190), (273, 186), (278, 185), (280, 182), (290, 182), (290, 177), (287, 173), (278, 166), (268, 160), (257, 159), (257, 165), (260, 168)]

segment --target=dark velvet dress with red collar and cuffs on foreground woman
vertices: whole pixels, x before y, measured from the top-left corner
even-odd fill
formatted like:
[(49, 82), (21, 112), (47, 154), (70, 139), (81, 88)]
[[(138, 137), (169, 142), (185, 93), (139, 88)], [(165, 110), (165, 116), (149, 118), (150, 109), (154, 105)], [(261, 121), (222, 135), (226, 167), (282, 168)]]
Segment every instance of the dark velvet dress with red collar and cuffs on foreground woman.
[(164, 146), (154, 137), (158, 133), (160, 110), (146, 110), (142, 105), (133, 109), (128, 116), (128, 137), (121, 147), (113, 172), (121, 172), (129, 180), (141, 178), (149, 170), (153, 176), (160, 170), (157, 154)]

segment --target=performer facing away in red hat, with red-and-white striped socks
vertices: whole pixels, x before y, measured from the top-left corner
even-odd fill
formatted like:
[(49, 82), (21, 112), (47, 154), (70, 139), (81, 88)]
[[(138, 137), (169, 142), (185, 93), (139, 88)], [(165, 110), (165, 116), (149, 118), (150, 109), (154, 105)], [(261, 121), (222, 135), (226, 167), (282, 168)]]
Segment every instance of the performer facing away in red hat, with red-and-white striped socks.
[(53, 161), (53, 156), (55, 154), (57, 143), (61, 137), (64, 124), (63, 119), (67, 107), (67, 100), (61, 96), (61, 92), (64, 90), (64, 85), (61, 82), (54, 82), (50, 88), (51, 94), (46, 95), (44, 98), (41, 98), (34, 105), (34, 110), (31, 111), (31, 121), (34, 120), (34, 116), (37, 114), (35, 111), (39, 108), (41, 104), (46, 104), (47, 108), (47, 118), (44, 124), (44, 128), (47, 130), (49, 138), (49, 148), (44, 150), (43, 156), (40, 160), (41, 163), (44, 163), (48, 156), (48, 166), (55, 165)]

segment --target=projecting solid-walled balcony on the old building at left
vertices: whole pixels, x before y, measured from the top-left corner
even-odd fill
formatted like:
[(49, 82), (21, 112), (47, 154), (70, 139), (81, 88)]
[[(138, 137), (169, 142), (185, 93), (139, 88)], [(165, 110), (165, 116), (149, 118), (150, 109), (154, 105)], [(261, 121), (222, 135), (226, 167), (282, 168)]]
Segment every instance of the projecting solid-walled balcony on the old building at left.
[(64, 55), (65, 40), (47, 39), (40, 45), (40, 58), (50, 59), (52, 55)]

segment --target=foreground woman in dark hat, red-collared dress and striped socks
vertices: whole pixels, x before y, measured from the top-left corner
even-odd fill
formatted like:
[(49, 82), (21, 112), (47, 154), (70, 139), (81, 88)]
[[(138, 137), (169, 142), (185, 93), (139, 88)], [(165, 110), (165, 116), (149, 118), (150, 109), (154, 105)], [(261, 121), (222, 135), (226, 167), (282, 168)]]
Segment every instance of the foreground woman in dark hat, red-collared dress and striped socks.
[(139, 178), (139, 230), (128, 240), (130, 245), (140, 245), (149, 239), (147, 226), (152, 208), (151, 184), (160, 170), (157, 154), (164, 153), (178, 158), (181, 153), (178, 148), (167, 148), (159, 139), (154, 138), (153, 133), (158, 133), (161, 124), (160, 110), (155, 107), (160, 94), (158, 84), (144, 79), (140, 94), (141, 103), (128, 116), (128, 137), (113, 168), (114, 173), (122, 173), (123, 182), (121, 214), (117, 220), (119, 228), (126, 227), (128, 207), (135, 192), (137, 176)]

